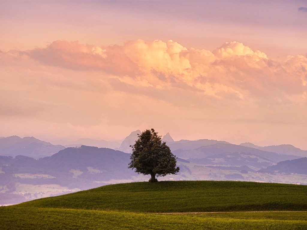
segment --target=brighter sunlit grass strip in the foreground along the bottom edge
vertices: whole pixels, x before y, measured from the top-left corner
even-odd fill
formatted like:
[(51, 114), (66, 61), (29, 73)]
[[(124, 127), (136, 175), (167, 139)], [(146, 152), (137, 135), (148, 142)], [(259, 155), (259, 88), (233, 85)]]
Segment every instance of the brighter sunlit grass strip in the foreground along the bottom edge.
[(95, 210), (0, 207), (2, 230), (37, 229), (207, 229), (302, 230), (306, 220), (238, 220), (186, 215), (141, 214)]

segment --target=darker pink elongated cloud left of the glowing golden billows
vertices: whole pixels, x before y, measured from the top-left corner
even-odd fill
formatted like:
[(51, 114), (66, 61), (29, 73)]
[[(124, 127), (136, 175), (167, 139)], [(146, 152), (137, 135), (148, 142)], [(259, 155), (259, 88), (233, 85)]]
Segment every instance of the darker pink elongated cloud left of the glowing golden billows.
[(134, 74), (137, 71), (135, 63), (117, 45), (105, 50), (77, 41), (54, 41), (47, 48), (36, 48), (25, 53), (41, 63), (74, 70), (100, 69), (115, 74)]

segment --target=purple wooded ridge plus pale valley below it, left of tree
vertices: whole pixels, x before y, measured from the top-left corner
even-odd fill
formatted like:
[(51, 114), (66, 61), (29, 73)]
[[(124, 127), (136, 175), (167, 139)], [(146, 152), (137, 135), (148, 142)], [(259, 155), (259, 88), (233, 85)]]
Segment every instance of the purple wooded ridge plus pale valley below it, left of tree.
[[(18, 203), (25, 194), (27, 199), (34, 199), (38, 194), (51, 196), (131, 181), (136, 174), (128, 169), (129, 162), (128, 153), (88, 146), (66, 148), (38, 160), (0, 156), (0, 205), (12, 204), (12, 200)], [(3, 195), (8, 193), (14, 195)]]

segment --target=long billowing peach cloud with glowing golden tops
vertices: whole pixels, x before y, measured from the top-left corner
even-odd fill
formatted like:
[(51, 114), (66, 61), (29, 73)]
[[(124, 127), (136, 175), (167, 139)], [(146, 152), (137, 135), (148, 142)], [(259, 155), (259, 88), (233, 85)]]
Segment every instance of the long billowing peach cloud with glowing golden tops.
[(173, 40), (134, 40), (106, 47), (55, 41), (25, 54), (47, 65), (101, 71), (113, 89), (153, 98), (161, 91), (185, 89), (219, 100), (295, 103), (306, 91), (306, 57), (277, 62), (236, 41), (212, 52), (188, 49)]

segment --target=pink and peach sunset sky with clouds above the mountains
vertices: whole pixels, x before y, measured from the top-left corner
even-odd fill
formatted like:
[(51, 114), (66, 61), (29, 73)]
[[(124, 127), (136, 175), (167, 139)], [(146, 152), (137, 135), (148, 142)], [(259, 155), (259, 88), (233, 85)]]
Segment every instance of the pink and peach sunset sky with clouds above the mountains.
[(307, 150), (307, 1), (0, 1), (0, 31), (2, 137)]

